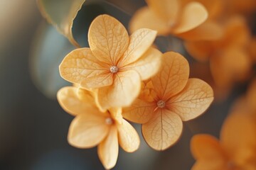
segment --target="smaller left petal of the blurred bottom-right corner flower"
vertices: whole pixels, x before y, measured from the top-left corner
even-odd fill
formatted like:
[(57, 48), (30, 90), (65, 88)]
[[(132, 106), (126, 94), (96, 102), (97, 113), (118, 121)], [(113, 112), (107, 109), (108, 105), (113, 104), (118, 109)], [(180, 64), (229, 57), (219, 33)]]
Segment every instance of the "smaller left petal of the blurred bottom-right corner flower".
[(192, 170), (224, 170), (225, 152), (218, 140), (211, 135), (195, 135), (191, 140), (191, 153), (196, 159)]

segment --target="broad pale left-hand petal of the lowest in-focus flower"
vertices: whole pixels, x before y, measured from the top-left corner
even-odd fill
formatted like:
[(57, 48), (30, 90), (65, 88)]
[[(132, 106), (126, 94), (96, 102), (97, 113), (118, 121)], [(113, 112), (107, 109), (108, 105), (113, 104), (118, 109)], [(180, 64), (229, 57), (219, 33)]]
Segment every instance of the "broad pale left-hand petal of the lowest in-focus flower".
[(99, 114), (80, 114), (70, 124), (68, 142), (79, 148), (90, 148), (98, 145), (109, 132), (105, 117)]

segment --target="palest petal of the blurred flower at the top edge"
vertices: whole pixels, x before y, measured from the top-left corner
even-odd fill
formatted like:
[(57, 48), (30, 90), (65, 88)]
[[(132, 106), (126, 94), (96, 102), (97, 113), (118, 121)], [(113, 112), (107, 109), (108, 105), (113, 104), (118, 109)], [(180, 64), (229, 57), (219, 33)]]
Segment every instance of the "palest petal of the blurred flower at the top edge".
[(183, 8), (181, 18), (179, 18), (179, 22), (174, 28), (174, 33), (184, 33), (188, 30), (192, 30), (200, 26), (207, 18), (208, 12), (202, 4), (196, 1), (188, 3)]

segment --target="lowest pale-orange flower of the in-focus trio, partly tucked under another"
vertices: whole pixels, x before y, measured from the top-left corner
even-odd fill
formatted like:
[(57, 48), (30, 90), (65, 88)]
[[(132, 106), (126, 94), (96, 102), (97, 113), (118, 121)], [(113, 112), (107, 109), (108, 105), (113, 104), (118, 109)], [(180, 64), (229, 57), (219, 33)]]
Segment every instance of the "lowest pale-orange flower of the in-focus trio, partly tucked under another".
[(70, 124), (68, 142), (73, 147), (97, 147), (105, 169), (112, 169), (117, 162), (118, 144), (126, 152), (139, 147), (139, 135), (122, 118), (120, 108), (110, 108), (102, 113), (95, 103), (94, 94), (77, 87), (64, 87), (58, 91), (60, 106), (75, 118)]

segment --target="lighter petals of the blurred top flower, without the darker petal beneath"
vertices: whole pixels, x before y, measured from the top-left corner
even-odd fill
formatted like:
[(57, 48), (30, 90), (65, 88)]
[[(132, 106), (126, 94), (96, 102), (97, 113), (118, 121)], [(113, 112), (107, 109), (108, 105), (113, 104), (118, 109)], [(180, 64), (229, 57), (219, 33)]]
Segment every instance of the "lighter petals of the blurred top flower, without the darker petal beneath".
[(146, 3), (148, 6), (139, 9), (130, 22), (132, 32), (149, 28), (157, 30), (159, 35), (178, 35), (200, 26), (208, 18), (206, 8), (196, 1), (183, 4), (179, 0), (147, 0)]

